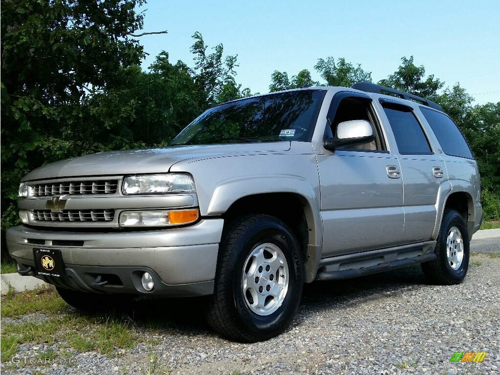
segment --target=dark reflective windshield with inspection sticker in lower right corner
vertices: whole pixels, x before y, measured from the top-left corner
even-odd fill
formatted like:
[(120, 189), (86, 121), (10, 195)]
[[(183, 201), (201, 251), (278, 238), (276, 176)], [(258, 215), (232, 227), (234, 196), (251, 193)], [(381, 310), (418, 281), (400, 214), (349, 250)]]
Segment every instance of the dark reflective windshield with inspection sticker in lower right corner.
[(170, 145), (308, 141), (325, 92), (279, 92), (217, 105), (187, 125)]

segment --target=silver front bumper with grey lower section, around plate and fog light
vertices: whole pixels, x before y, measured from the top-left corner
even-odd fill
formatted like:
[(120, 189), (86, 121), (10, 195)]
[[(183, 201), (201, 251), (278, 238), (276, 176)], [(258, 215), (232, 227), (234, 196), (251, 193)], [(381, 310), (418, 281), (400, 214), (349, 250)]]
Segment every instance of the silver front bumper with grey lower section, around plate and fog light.
[[(87, 292), (190, 296), (213, 292), (222, 226), (223, 219), (215, 218), (183, 228), (112, 233), (21, 225), (8, 229), (6, 237), (19, 273), (54, 285)], [(33, 248), (60, 249), (65, 276), (34, 274)], [(152, 291), (141, 286), (145, 271), (153, 277)]]

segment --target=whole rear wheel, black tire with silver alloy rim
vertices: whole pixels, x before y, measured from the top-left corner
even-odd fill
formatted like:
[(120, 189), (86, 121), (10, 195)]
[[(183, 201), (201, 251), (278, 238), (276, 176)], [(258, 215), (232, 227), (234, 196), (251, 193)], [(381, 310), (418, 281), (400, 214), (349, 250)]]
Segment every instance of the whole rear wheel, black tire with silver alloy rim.
[(444, 211), (434, 253), (434, 260), (421, 264), (427, 281), (436, 285), (462, 282), (469, 264), (469, 235), (462, 216), (453, 209)]

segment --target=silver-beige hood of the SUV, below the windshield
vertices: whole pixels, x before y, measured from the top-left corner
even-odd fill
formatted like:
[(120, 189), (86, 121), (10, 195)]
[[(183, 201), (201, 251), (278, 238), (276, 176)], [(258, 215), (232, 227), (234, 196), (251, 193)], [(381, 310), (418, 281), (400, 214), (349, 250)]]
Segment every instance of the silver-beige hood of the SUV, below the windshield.
[(25, 175), (22, 181), (57, 177), (164, 173), (176, 162), (186, 159), (279, 152), (288, 149), (290, 142), (281, 141), (99, 152), (43, 165)]

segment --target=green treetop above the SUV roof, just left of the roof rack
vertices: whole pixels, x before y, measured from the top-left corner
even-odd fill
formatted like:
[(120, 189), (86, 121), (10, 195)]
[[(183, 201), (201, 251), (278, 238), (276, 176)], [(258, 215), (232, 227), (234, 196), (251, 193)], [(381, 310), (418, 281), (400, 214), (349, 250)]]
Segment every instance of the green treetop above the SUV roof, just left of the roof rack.
[(357, 82), (371, 82), (371, 72), (364, 71), (360, 64), (352, 65), (345, 58), (329, 56), (326, 59), (319, 58), (314, 69), (321, 74), (328, 86), (350, 87)]

